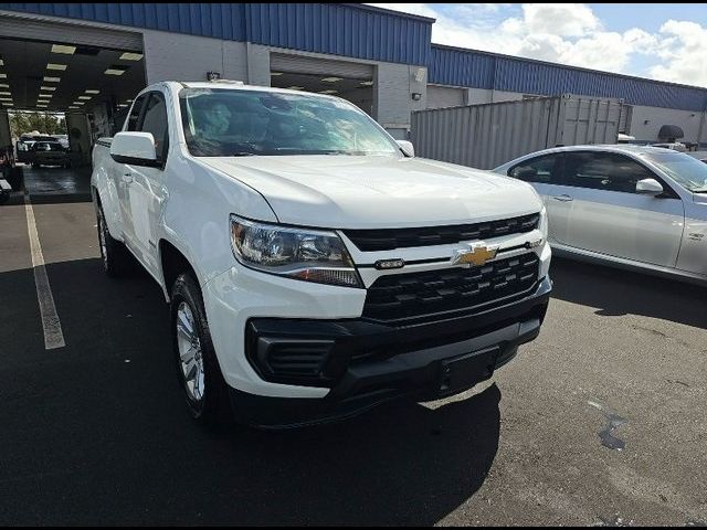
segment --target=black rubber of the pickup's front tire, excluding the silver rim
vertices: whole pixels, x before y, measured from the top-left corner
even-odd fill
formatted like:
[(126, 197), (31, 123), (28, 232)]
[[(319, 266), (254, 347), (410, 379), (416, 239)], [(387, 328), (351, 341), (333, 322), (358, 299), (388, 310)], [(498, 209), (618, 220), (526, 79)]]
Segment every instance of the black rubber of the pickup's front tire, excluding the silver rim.
[[(190, 391), (179, 350), (179, 332), (177, 331), (178, 314), (182, 305), (189, 306), (193, 318), (193, 331), (199, 340), (200, 360), (203, 367), (203, 383), (200, 399)], [(180, 274), (171, 289), (171, 328), (172, 348), (177, 368), (177, 377), (183, 391), (187, 406), (192, 417), (200, 424), (219, 427), (233, 423), (233, 414), (229, 400), (229, 388), (221, 373), (217, 353), (211, 341), (209, 322), (203, 308), (203, 298), (199, 284), (190, 273)]]

